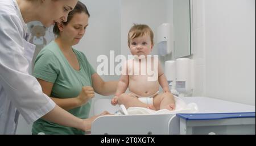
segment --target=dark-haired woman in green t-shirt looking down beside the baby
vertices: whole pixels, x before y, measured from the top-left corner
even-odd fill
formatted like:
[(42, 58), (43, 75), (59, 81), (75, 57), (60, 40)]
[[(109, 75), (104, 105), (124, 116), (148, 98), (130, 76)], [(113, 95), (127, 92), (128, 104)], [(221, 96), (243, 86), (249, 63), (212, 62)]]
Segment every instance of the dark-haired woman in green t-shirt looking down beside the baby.
[[(78, 2), (69, 12), (67, 22), (55, 24), (53, 32), (56, 39), (49, 43), (35, 60), (35, 76), (43, 92), (57, 105), (71, 114), (92, 122), (98, 116), (89, 118), (91, 98), (94, 92), (112, 95), (117, 81), (105, 82), (89, 64), (84, 53), (73, 49), (79, 43), (88, 26), (89, 12), (86, 6)], [(101, 115), (108, 114), (104, 111)], [(39, 119), (32, 126), (32, 134), (85, 134), (72, 127)]]

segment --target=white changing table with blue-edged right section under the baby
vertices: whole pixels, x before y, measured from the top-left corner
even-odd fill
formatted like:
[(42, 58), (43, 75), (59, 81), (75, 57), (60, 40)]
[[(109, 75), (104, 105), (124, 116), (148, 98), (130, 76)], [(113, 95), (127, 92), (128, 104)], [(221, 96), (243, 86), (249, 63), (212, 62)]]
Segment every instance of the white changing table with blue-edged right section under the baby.
[(92, 123), (91, 134), (255, 134), (255, 106), (207, 97), (182, 99), (196, 103), (199, 112), (101, 116)]

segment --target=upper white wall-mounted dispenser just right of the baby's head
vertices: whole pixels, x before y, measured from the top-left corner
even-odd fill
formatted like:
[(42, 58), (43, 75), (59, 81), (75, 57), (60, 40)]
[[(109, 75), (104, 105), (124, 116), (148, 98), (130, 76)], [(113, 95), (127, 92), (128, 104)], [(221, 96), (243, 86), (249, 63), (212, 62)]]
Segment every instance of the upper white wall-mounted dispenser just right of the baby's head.
[[(157, 47), (159, 55), (174, 54), (174, 31), (169, 23), (163, 23), (157, 30)], [(173, 59), (173, 57), (172, 57)]]

